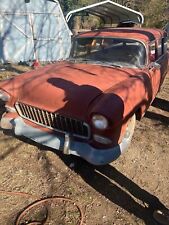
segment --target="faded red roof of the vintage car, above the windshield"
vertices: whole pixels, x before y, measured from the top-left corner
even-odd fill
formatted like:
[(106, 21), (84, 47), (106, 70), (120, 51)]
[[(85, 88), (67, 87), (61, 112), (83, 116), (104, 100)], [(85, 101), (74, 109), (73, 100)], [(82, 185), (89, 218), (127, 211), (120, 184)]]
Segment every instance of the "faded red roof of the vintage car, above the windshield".
[(164, 31), (153, 28), (106, 28), (88, 31), (77, 37), (117, 37), (137, 39), (142, 42), (151, 42), (164, 35)]

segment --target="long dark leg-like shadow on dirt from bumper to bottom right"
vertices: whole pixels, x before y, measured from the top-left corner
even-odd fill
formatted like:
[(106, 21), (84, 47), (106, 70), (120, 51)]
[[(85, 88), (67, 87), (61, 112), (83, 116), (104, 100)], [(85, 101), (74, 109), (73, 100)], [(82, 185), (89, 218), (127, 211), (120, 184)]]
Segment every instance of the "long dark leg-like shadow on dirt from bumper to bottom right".
[[(120, 206), (140, 218), (146, 225), (158, 225), (153, 219), (153, 211), (165, 206), (159, 199), (140, 188), (136, 183), (123, 175), (111, 165), (93, 166), (78, 157), (65, 157), (60, 155), (63, 162), (69, 166), (73, 162), (73, 170), (96, 191), (109, 199), (112, 203)], [(137, 200), (135, 200), (135, 198)]]

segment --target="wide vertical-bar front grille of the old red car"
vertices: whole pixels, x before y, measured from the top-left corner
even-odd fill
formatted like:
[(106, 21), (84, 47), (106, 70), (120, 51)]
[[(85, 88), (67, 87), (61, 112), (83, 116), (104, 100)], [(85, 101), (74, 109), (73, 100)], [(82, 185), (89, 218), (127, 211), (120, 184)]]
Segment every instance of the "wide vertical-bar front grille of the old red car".
[(15, 105), (19, 115), (25, 119), (35, 122), (41, 126), (56, 130), (62, 133), (70, 133), (73, 136), (89, 139), (90, 129), (85, 122), (65, 117), (58, 113), (51, 113), (46, 110), (16, 103)]

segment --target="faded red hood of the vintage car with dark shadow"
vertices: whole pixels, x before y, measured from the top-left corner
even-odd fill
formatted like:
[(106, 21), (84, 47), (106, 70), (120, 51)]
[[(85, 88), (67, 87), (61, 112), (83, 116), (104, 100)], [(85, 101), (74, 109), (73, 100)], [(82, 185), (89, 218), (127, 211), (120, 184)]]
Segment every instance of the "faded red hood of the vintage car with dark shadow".
[(0, 88), (20, 101), (51, 112), (84, 119), (92, 101), (136, 69), (61, 62), (0, 83)]

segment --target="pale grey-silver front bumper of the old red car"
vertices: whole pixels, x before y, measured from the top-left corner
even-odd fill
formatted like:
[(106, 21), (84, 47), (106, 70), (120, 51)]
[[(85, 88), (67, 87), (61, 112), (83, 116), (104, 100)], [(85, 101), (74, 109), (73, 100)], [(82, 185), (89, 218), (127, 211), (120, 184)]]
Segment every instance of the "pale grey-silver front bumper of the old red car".
[[(1, 123), (3, 119), (6, 118), (2, 118)], [(25, 136), (37, 143), (60, 150), (65, 154), (79, 156), (94, 165), (105, 165), (116, 160), (121, 153), (127, 149), (130, 143), (130, 140), (123, 139), (120, 145), (116, 147), (110, 149), (96, 149), (88, 143), (74, 140), (69, 135), (56, 135), (29, 126), (20, 117), (8, 119), (17, 136)]]

